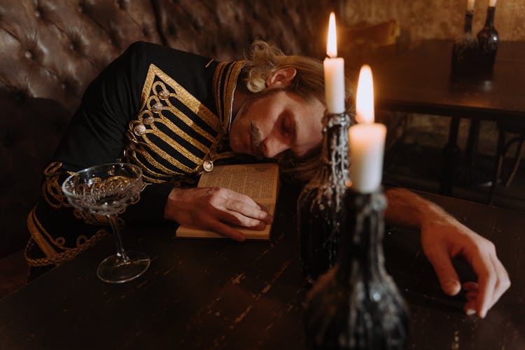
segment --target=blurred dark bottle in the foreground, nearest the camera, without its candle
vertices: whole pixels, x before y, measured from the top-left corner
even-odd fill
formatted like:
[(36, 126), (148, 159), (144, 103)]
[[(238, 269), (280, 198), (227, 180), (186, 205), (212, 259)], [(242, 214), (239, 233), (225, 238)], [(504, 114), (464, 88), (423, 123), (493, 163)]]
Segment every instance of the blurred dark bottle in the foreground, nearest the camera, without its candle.
[(349, 191), (346, 231), (337, 265), (307, 295), (309, 349), (404, 349), (408, 312), (384, 268), (381, 193)]

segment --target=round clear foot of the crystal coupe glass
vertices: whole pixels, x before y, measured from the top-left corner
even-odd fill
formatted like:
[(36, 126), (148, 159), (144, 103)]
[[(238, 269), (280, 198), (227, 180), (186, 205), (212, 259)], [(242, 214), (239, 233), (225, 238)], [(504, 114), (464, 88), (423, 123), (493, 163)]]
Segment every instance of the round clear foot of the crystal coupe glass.
[(151, 259), (140, 251), (126, 251), (128, 262), (116, 254), (104, 259), (97, 268), (97, 276), (104, 282), (124, 283), (136, 279), (146, 272), (150, 266)]

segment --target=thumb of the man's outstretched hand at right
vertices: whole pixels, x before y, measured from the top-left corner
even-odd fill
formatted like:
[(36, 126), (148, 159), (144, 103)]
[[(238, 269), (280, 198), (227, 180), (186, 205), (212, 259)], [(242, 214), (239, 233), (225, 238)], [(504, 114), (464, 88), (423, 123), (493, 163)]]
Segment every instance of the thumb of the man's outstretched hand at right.
[(433, 265), (437, 279), (442, 290), (447, 295), (456, 295), (461, 290), (458, 274), (452, 266), (449, 253), (444, 246), (435, 246), (426, 253), (428, 260)]

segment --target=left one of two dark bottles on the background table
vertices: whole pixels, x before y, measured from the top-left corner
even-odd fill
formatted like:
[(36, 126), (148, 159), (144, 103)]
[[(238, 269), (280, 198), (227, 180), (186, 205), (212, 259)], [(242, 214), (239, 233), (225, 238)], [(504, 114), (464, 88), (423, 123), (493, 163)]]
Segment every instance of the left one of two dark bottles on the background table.
[(472, 73), (477, 64), (477, 38), (472, 34), (472, 18), (474, 10), (465, 11), (463, 33), (452, 45), (452, 73)]

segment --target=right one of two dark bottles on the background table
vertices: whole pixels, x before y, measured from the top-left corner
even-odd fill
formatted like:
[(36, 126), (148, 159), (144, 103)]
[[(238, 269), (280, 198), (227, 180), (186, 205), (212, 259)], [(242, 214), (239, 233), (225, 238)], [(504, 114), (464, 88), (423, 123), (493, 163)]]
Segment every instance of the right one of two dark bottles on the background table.
[(489, 6), (486, 10), (484, 27), (477, 33), (477, 45), (479, 47), (479, 68), (482, 71), (491, 71), (498, 52), (500, 37), (494, 28), (494, 14), (496, 7)]

